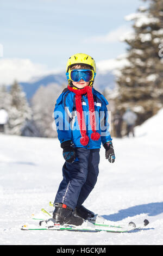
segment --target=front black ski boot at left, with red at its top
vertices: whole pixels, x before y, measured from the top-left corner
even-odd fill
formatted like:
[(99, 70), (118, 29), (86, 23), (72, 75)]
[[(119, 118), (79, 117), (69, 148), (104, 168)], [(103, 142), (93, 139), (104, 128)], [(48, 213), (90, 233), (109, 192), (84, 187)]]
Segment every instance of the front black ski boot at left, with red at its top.
[(84, 219), (75, 215), (73, 210), (66, 204), (55, 203), (54, 206), (53, 220), (55, 223), (60, 225), (71, 224), (76, 226), (83, 224)]

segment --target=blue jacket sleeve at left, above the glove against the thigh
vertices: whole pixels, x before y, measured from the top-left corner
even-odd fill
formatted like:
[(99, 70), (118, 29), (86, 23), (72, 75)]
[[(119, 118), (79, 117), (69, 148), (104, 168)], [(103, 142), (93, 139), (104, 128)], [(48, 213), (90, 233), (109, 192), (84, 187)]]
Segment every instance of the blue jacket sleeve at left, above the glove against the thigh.
[(54, 108), (55, 125), (60, 143), (72, 140), (72, 107), (72, 101), (67, 99), (67, 93), (62, 93)]

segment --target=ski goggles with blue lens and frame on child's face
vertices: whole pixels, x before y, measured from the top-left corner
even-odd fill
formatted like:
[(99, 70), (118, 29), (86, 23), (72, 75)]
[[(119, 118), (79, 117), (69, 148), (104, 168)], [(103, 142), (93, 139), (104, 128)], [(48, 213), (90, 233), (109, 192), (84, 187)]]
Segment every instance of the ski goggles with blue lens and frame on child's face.
[(94, 80), (96, 73), (91, 69), (73, 69), (66, 73), (67, 80), (73, 82), (79, 82), (83, 79), (85, 82), (91, 82)]

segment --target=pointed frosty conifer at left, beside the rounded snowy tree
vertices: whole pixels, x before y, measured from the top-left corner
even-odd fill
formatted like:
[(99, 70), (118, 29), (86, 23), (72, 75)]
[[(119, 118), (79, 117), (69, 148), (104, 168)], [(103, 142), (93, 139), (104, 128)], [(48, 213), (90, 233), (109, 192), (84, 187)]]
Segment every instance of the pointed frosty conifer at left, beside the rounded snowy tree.
[(15, 81), (10, 88), (9, 133), (21, 135), (24, 124), (31, 119), (32, 111), (26, 100), (26, 94)]

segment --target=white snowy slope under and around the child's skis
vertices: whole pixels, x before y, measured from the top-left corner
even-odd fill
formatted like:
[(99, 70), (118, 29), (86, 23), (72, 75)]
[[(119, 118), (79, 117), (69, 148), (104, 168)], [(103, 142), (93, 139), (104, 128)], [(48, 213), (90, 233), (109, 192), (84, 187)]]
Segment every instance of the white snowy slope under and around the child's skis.
[(58, 139), (0, 135), (1, 245), (162, 245), (163, 109), (135, 128), (135, 138), (113, 138), (116, 162), (101, 149), (98, 181), (85, 207), (116, 223), (145, 218), (149, 225), (130, 233), (22, 231), (30, 215), (54, 200), (64, 160)]

